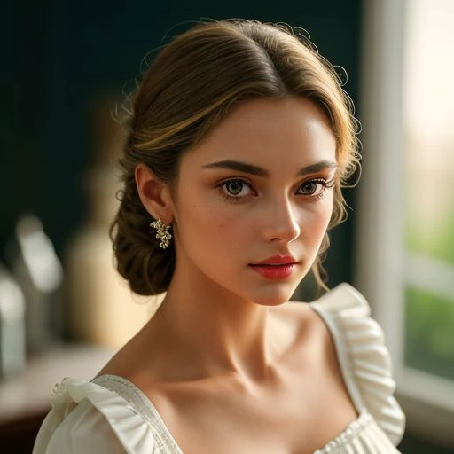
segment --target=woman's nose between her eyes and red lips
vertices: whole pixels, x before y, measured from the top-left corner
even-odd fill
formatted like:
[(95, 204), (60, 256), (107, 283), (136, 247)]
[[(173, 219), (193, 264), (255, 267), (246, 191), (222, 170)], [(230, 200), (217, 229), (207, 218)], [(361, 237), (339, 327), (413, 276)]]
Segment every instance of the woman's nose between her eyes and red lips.
[(300, 236), (298, 209), (289, 200), (270, 202), (264, 215), (262, 235), (266, 241), (290, 243)]

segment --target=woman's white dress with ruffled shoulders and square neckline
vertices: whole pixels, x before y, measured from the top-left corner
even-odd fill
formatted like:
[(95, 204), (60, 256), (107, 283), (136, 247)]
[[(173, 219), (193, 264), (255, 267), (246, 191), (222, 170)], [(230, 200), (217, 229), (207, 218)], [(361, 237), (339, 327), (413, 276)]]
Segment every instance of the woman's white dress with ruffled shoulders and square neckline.
[[(341, 284), (310, 306), (332, 334), (359, 415), (314, 454), (398, 453), (405, 417), (393, 396), (383, 333), (367, 302), (352, 286)], [(153, 403), (121, 377), (66, 378), (54, 387), (51, 405), (33, 454), (183, 454)]]

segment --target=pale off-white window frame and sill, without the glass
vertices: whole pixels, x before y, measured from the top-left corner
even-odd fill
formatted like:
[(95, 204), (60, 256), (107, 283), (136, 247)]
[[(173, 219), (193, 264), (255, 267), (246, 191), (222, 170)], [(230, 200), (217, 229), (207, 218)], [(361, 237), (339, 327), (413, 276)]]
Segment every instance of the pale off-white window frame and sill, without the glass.
[(396, 398), (407, 427), (454, 444), (454, 381), (403, 364), (403, 76), (408, 0), (363, 4), (360, 119), (363, 175), (358, 185), (354, 281), (381, 325), (393, 362)]

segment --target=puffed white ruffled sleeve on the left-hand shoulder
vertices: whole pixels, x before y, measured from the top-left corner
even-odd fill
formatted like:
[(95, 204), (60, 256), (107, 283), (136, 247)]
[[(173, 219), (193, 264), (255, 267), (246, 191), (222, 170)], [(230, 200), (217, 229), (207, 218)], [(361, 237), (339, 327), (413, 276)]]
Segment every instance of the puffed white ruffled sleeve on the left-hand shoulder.
[(160, 453), (142, 416), (105, 387), (67, 378), (52, 390), (51, 405), (33, 454)]

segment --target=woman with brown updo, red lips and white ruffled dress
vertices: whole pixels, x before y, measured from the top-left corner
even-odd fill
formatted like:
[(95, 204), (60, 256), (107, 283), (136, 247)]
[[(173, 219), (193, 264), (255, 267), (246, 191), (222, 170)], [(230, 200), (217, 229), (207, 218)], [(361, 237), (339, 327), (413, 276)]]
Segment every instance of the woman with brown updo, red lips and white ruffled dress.
[(285, 27), (192, 27), (132, 99), (118, 270), (160, 309), (90, 382), (65, 379), (42, 453), (397, 452), (403, 413), (363, 297), (288, 302), (344, 215), (355, 119)]

